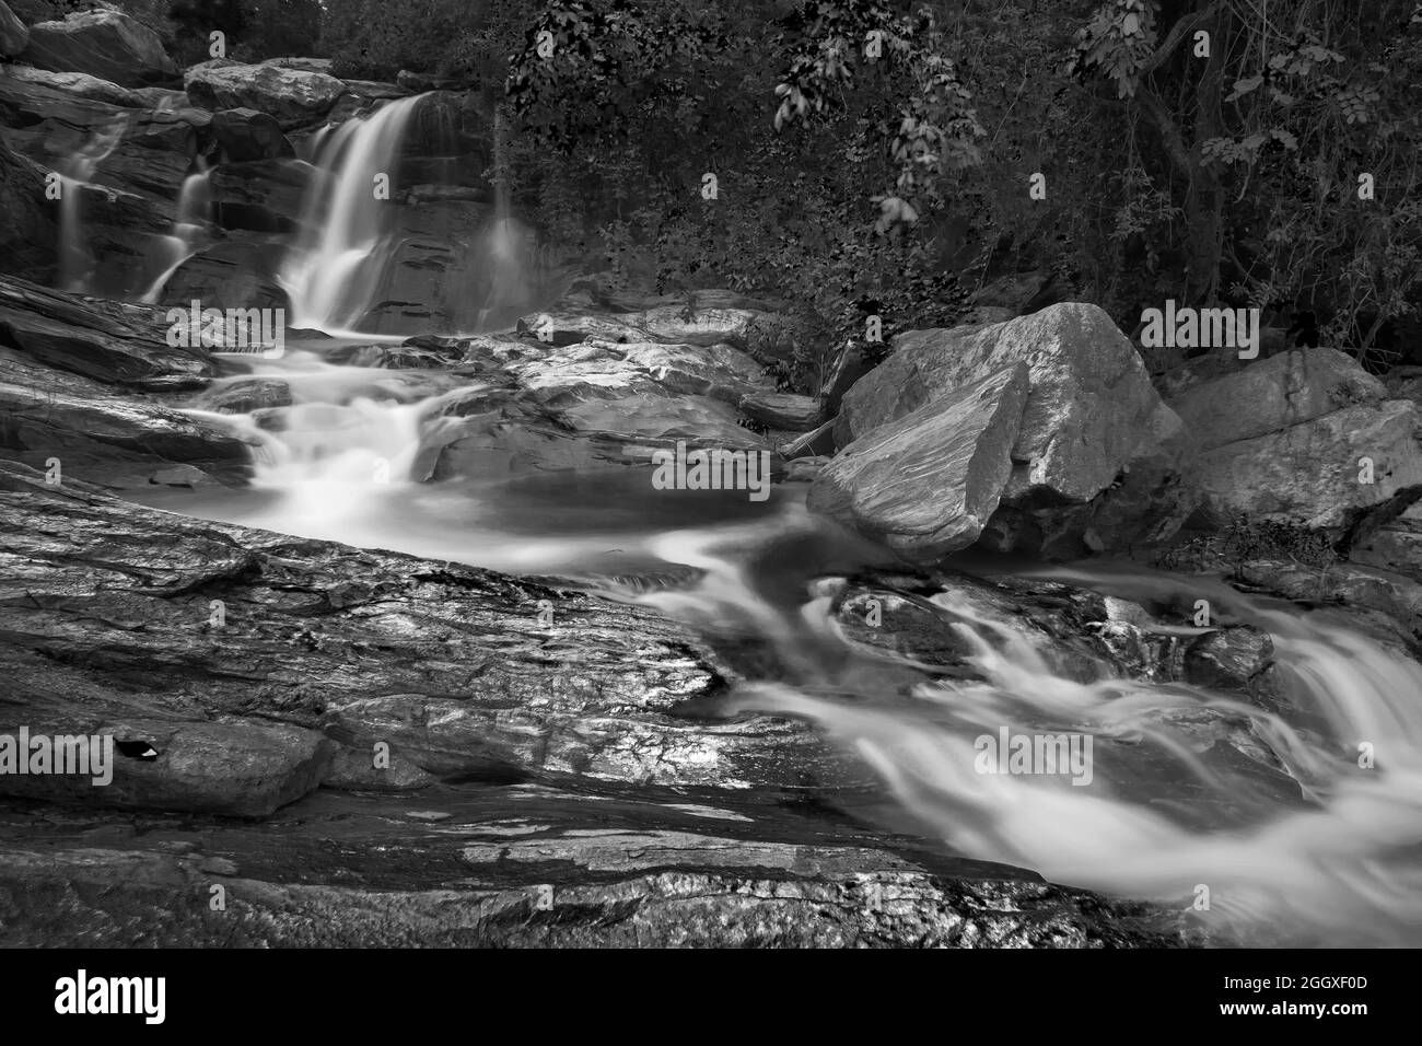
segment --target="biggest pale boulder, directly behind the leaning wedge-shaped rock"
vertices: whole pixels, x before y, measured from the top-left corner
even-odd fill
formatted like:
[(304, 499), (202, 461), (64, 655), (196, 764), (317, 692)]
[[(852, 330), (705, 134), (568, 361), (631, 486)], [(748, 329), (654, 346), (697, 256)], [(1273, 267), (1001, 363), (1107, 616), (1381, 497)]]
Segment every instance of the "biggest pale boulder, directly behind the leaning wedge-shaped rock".
[[(1170, 538), (1197, 502), (1176, 474), (1182, 423), (1152, 389), (1130, 343), (1094, 305), (900, 336), (889, 359), (845, 394), (835, 443), (855, 447), (880, 428), (899, 433), (906, 416), (931, 414), (946, 397), (1018, 363), (1027, 367), (1028, 391), (1011, 472), (987, 508), (991, 518), (968, 529), (993, 551), (1051, 559)], [(826, 482), (835, 475), (830, 470)], [(856, 471), (855, 480), (879, 485), (873, 470)], [(909, 488), (926, 502), (937, 497), (921, 482)], [(974, 504), (987, 507), (988, 498)], [(913, 552), (931, 556), (940, 545)]]

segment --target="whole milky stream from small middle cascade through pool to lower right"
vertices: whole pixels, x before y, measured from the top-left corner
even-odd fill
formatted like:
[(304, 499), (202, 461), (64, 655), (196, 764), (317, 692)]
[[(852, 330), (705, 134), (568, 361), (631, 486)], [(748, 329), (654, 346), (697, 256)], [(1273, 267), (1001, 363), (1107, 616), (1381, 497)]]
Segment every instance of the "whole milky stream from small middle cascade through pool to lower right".
[[(1041, 635), (951, 588), (933, 602), (971, 643), (974, 672), (921, 672), (903, 687), (912, 662), (846, 639), (829, 598), (815, 589), (825, 574), (887, 556), (816, 522), (796, 487), (778, 487), (755, 505), (734, 492), (656, 491), (647, 470), (620, 467), (419, 482), (428, 448), (455, 424), (442, 406), (461, 390), (458, 379), (334, 366), (306, 350), (245, 363), (293, 393), (290, 407), (215, 416), (260, 444), (250, 490), (169, 494), (159, 504), (354, 545), (580, 576), (594, 588), (619, 575), (694, 568), (700, 581), (690, 585), (606, 591), (707, 633), (771, 643), (774, 679), (752, 680), (735, 706), (818, 723), (883, 781), (886, 808), (897, 811), (892, 827), (903, 827), (902, 815), (956, 852), (1182, 909), (1207, 887), (1210, 908), (1200, 918), (1266, 939), (1422, 942), (1422, 666), (1344, 619), (1206, 579), (1037, 568), (1025, 575), (1095, 588), (1163, 616), (1160, 608), (1206, 598), (1216, 613), (1267, 630), (1281, 709), (1183, 683), (1111, 675), (1078, 682), (1058, 670)], [(1206, 713), (1247, 723), (1274, 778), (1297, 783), (1293, 794), (1260, 787), (1249, 760), (1206, 759), (1192, 730)], [(980, 773), (977, 739), (1003, 729), (1091, 736), (1089, 784)], [(1375, 747), (1371, 768), (1358, 764), (1362, 743)]]

